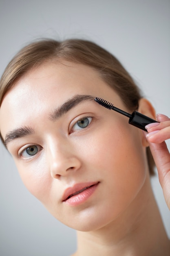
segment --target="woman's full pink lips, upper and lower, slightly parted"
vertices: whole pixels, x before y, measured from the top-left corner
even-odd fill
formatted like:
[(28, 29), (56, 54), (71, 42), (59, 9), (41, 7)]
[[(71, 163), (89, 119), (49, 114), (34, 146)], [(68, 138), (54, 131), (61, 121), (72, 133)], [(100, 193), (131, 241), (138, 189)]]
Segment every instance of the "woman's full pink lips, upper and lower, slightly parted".
[(76, 206), (85, 202), (95, 191), (99, 182), (79, 183), (75, 184), (64, 191), (62, 202), (71, 206)]

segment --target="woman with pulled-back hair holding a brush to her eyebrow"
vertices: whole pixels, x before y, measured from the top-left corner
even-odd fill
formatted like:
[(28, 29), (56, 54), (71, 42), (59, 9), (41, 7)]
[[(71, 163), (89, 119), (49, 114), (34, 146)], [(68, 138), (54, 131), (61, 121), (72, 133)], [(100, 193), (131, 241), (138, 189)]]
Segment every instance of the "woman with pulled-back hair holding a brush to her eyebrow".
[[(158, 122), (143, 132), (95, 97)], [(27, 189), (77, 230), (75, 256), (170, 255), (150, 185), (151, 150), (170, 209), (170, 119), (114, 56), (84, 40), (32, 43), (4, 71), (0, 104), (2, 142)]]

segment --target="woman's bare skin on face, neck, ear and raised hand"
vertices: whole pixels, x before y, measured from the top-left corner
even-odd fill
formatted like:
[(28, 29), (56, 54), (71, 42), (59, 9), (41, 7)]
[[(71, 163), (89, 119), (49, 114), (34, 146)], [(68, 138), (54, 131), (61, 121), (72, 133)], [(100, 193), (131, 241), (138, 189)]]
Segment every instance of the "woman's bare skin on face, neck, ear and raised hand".
[[(127, 117), (93, 100), (82, 101), (56, 120), (49, 118), (77, 94), (101, 97), (129, 111), (95, 70), (66, 61), (31, 70), (5, 95), (2, 137), (21, 126), (34, 130), (7, 144), (22, 181), (55, 218), (78, 230), (74, 255), (168, 256), (170, 243), (150, 186), (146, 147), (150, 145), (156, 159), (170, 207), (170, 155), (164, 142), (170, 138), (170, 119), (159, 115), (161, 124), (149, 125), (146, 135), (130, 126)], [(139, 112), (155, 118), (145, 99)], [(82, 119), (89, 122), (84, 128), (77, 123)], [(33, 145), (38, 152), (30, 156), (26, 148)], [(87, 200), (77, 206), (62, 202), (68, 187), (84, 182), (99, 182)]]

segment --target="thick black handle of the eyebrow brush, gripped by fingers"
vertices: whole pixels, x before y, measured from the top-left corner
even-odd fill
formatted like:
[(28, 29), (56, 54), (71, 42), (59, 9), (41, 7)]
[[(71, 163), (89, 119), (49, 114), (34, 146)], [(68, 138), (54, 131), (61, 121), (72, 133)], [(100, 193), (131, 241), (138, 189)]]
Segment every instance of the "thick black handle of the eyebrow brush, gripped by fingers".
[(137, 111), (134, 111), (132, 113), (132, 116), (129, 118), (129, 124), (132, 124), (133, 126), (136, 126), (146, 132), (147, 132), (147, 130), (145, 129), (145, 126), (147, 124), (151, 124), (151, 123), (158, 123), (158, 122), (150, 117), (142, 115), (141, 113), (139, 113)]

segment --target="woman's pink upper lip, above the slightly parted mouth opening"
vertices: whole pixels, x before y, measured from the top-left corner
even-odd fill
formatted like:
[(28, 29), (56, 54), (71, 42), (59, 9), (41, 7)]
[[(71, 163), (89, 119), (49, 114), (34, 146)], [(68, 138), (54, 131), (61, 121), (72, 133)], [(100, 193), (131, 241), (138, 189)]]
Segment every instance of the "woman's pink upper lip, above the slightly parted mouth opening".
[(75, 184), (73, 187), (70, 187), (64, 191), (62, 196), (62, 202), (68, 200), (69, 198), (82, 193), (88, 188), (97, 185), (99, 182), (88, 182), (88, 183), (79, 183)]

